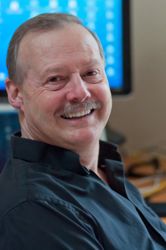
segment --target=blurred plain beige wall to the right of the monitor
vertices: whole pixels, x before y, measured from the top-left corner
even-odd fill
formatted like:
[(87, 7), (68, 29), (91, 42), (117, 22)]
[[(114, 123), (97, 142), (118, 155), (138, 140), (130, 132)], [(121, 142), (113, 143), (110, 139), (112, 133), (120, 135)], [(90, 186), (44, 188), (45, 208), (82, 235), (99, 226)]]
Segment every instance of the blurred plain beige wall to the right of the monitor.
[(166, 0), (131, 0), (133, 93), (113, 98), (112, 128), (136, 150), (166, 145)]

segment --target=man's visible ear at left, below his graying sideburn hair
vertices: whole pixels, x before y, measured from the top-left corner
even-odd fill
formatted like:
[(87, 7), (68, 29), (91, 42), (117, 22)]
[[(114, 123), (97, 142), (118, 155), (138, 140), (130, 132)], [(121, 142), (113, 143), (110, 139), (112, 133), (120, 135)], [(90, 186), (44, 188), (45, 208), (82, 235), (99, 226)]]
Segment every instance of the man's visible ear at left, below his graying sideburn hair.
[(9, 103), (16, 109), (21, 109), (23, 105), (23, 98), (21, 93), (21, 88), (14, 83), (13, 80), (6, 79), (6, 91), (8, 95)]

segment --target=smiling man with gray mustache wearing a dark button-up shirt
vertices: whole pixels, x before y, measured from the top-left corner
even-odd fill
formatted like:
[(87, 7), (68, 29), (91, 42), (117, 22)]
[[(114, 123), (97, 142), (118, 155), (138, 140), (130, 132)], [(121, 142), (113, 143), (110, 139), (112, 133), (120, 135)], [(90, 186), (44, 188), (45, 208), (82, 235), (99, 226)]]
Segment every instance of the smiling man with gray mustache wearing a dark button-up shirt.
[(74, 16), (42, 14), (8, 49), (21, 133), (0, 177), (0, 249), (164, 250), (166, 226), (99, 142), (111, 95), (97, 37)]

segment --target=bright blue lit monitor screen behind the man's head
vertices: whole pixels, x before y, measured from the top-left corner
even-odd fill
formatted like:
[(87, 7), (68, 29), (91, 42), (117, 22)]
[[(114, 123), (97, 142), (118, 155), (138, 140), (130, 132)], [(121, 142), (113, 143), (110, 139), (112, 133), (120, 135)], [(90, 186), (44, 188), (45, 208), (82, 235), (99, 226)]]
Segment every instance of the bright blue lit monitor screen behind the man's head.
[(100, 38), (106, 73), (113, 89), (123, 87), (122, 0), (1, 0), (0, 89), (7, 77), (6, 52), (15, 29), (25, 20), (45, 12), (75, 14)]

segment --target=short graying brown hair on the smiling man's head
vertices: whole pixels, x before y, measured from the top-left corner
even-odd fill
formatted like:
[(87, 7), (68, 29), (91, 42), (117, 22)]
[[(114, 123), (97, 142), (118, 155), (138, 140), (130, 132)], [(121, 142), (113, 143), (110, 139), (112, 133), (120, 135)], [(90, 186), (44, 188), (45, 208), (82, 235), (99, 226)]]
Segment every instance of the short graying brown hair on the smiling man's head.
[(20, 25), (13, 37), (10, 40), (8, 51), (7, 51), (7, 69), (9, 78), (15, 83), (20, 83), (22, 79), (22, 71), (19, 67), (17, 62), (18, 50), (20, 46), (20, 42), (23, 37), (29, 32), (38, 32), (38, 31), (49, 31), (53, 29), (63, 28), (67, 24), (78, 24), (84, 27), (96, 40), (100, 55), (104, 58), (102, 45), (100, 40), (96, 36), (94, 32), (88, 29), (86, 26), (82, 24), (82, 22), (76, 17), (71, 14), (64, 14), (64, 13), (45, 13), (35, 16), (22, 25)]

